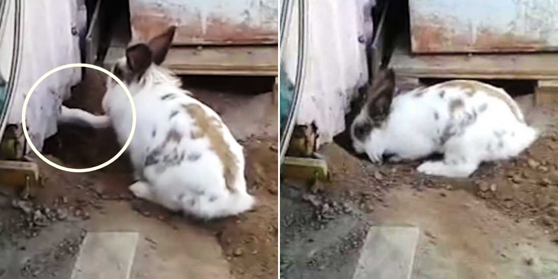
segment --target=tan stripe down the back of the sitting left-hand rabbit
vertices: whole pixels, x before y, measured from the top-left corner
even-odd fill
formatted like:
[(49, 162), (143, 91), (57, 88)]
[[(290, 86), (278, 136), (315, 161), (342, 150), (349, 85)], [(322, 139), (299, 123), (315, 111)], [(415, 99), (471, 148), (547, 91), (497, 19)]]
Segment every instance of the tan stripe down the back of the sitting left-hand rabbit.
[(209, 139), (210, 148), (217, 153), (217, 156), (219, 156), (219, 159), (223, 163), (225, 185), (227, 189), (232, 192), (236, 191), (233, 187), (233, 183), (239, 168), (233, 152), (230, 151), (229, 145), (225, 142), (220, 132), (220, 129), (222, 129), (221, 123), (217, 118), (208, 116), (204, 109), (198, 104), (187, 104), (184, 105), (184, 108), (194, 119), (194, 125), (198, 127), (201, 136), (205, 136)]

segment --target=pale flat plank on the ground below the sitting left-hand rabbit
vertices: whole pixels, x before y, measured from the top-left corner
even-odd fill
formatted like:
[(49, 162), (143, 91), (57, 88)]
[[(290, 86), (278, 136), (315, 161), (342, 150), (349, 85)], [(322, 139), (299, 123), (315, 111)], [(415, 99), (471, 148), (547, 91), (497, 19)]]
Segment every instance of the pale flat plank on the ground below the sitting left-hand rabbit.
[(71, 279), (129, 279), (138, 233), (88, 233)]

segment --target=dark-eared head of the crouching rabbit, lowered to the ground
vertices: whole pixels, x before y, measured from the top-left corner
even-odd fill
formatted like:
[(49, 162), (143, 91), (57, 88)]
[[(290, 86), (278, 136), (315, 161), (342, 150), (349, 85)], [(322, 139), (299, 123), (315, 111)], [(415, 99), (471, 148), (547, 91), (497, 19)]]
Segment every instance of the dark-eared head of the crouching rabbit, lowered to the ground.
[(386, 123), (394, 94), (395, 73), (392, 69), (379, 71), (368, 87), (360, 112), (350, 128), (353, 147), (358, 153), (364, 152), (365, 142)]

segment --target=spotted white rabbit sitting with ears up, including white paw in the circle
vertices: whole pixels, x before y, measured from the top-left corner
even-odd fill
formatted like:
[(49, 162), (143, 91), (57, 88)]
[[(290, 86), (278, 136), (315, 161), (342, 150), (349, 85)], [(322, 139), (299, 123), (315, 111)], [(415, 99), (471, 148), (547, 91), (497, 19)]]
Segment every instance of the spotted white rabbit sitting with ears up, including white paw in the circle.
[[(249, 210), (254, 198), (246, 191), (243, 147), (219, 115), (181, 89), (181, 83), (159, 65), (169, 50), (175, 27), (148, 44), (129, 46), (112, 73), (128, 87), (136, 105), (137, 124), (127, 152), (137, 181), (129, 189), (138, 198), (174, 211), (183, 210), (210, 219)], [(132, 110), (121, 86), (110, 77), (102, 102), (116, 131), (126, 142), (132, 127)], [(65, 122), (104, 118), (69, 113)], [(86, 119), (85, 119), (86, 118)]]

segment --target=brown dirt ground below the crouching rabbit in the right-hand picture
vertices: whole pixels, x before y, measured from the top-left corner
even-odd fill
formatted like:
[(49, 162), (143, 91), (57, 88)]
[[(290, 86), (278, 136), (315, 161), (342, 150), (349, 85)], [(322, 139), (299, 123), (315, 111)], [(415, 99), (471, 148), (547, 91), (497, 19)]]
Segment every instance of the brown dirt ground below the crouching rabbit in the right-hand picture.
[(413, 279), (558, 278), (558, 103), (532, 99), (517, 98), (541, 137), (468, 179), (419, 174), (420, 162), (376, 166), (346, 142), (323, 146), (331, 181), (281, 181), (281, 277), (351, 278), (371, 225), (416, 225)]

